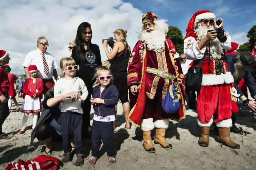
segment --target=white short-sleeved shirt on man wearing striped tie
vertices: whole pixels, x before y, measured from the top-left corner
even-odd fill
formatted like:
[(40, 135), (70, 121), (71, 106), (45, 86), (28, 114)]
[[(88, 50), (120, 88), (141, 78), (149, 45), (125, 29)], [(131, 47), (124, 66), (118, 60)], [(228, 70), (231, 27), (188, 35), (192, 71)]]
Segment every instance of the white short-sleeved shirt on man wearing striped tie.
[(23, 67), (27, 67), (29, 65), (36, 65), (37, 69), (39, 70), (39, 78), (44, 79), (51, 79), (53, 77), (53, 70), (59, 68), (57, 63), (55, 62), (55, 59), (50, 53), (45, 52), (45, 60), (49, 67), (49, 73), (44, 73), (44, 64), (43, 64), (43, 58), (41, 55), (41, 51), (39, 49), (36, 49), (34, 51), (30, 51), (24, 60), (24, 63), (22, 64)]

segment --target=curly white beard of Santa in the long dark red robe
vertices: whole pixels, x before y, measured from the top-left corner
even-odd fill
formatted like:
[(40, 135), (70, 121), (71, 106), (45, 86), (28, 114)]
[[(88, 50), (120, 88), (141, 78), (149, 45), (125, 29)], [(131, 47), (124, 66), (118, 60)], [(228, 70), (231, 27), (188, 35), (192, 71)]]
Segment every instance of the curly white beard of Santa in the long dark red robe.
[(166, 20), (157, 20), (155, 24), (156, 28), (151, 33), (141, 29), (139, 32), (139, 40), (147, 44), (148, 50), (159, 53), (164, 50), (165, 36), (169, 28), (166, 24)]

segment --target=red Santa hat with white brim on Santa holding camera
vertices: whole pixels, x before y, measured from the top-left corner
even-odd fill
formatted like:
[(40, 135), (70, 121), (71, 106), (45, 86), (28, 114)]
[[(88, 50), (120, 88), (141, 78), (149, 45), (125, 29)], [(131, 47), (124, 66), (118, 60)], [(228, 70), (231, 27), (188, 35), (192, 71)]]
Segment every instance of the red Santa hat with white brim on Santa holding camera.
[(194, 31), (194, 28), (200, 20), (215, 19), (215, 18), (216, 16), (214, 15), (214, 13), (212, 13), (212, 11), (209, 11), (209, 10), (196, 11), (196, 13), (192, 16), (192, 18), (188, 22), (188, 27), (186, 29), (187, 34), (185, 39), (188, 37), (194, 37), (196, 39), (196, 33)]

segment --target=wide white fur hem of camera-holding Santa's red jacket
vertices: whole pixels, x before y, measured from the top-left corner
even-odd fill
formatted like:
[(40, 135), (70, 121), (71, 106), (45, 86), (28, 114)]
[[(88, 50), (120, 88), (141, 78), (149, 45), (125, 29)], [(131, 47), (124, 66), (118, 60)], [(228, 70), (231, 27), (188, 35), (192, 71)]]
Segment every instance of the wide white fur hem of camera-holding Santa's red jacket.
[(206, 85), (222, 85), (231, 84), (234, 82), (234, 78), (231, 72), (226, 72), (226, 74), (204, 74), (202, 79), (202, 86)]

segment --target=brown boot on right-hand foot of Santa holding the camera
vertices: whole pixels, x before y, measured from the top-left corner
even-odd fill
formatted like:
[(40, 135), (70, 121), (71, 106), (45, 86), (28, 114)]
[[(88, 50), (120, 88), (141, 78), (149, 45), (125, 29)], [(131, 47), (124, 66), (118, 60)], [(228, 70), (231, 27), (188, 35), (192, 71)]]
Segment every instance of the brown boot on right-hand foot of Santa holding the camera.
[(230, 139), (230, 128), (219, 128), (219, 137), (218, 139), (220, 140), (220, 142), (232, 149), (240, 149), (240, 145), (234, 143), (231, 139)]

